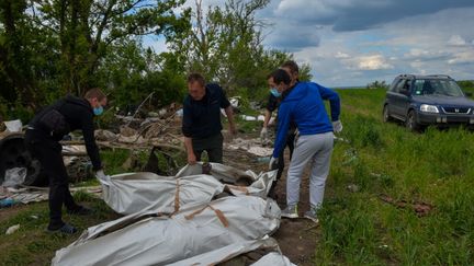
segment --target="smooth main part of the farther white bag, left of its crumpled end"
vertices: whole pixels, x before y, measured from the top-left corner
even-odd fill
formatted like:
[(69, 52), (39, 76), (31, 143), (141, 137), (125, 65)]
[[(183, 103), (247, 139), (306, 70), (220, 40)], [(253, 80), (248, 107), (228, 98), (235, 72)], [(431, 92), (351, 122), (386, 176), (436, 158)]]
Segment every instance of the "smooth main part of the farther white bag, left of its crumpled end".
[(154, 173), (111, 176), (102, 183), (102, 197), (116, 212), (131, 215), (142, 210), (172, 213), (190, 203), (210, 203), (224, 185), (210, 175), (180, 178)]

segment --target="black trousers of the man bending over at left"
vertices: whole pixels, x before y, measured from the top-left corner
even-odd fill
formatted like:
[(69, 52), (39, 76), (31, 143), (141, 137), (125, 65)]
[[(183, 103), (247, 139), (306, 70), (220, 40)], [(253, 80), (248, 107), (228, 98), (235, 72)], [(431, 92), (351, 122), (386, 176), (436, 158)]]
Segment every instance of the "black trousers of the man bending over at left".
[(59, 142), (48, 139), (37, 130), (26, 130), (25, 146), (32, 157), (36, 158), (49, 178), (49, 225), (58, 229), (64, 225), (61, 219), (63, 204), (68, 210), (79, 208), (69, 192), (68, 175), (63, 162)]

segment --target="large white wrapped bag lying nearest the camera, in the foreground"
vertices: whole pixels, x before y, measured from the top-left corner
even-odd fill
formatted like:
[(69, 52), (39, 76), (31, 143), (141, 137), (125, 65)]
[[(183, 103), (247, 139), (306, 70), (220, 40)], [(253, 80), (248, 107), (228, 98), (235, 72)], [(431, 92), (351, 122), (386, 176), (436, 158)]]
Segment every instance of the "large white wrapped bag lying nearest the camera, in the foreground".
[(279, 225), (280, 208), (272, 199), (228, 196), (183, 206), (171, 217), (144, 211), (89, 228), (56, 252), (53, 265), (168, 265), (260, 240)]

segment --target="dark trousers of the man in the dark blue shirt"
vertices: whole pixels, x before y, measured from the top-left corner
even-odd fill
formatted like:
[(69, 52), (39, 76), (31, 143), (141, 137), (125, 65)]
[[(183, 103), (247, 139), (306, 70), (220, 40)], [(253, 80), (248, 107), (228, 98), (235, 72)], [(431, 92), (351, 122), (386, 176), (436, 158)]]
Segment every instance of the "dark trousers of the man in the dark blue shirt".
[(193, 138), (192, 146), (196, 161), (201, 161), (204, 151), (207, 152), (210, 162), (223, 163), (223, 141), (222, 134), (216, 134), (206, 138)]

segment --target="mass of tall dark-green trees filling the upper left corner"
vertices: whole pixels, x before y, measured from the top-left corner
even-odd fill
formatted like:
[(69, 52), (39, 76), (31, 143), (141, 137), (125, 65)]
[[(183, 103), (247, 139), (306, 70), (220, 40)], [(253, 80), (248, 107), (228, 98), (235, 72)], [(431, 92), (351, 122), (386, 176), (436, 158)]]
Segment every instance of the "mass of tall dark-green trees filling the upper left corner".
[[(121, 44), (189, 27), (184, 0), (2, 0), (1, 96), (38, 107), (66, 92), (81, 95), (100, 84), (106, 55)], [(144, 55), (144, 54), (142, 54)]]

